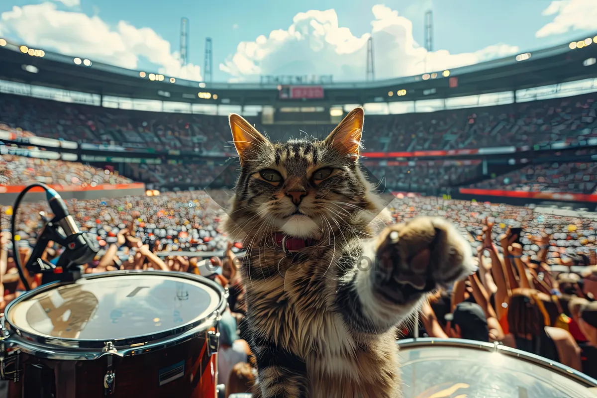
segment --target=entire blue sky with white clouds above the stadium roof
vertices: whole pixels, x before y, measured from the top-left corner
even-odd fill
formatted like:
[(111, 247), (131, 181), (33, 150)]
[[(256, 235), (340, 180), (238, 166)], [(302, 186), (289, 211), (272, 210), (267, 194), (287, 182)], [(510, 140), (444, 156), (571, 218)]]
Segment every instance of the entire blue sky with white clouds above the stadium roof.
[[(433, 10), (433, 54), (417, 48), (423, 45), (427, 8)], [(302, 32), (298, 38), (278, 33), (271, 39), (270, 32), (288, 30), (297, 14), (310, 10), (329, 11), (303, 15), (292, 30)], [(597, 32), (597, 0), (6, 0), (0, 2), (0, 16), (0, 35), (8, 39), (187, 78), (202, 76), (209, 36), (214, 81), (301, 71), (362, 80), (370, 34), (378, 50), (376, 75), (389, 78), (421, 72), (423, 58), (426, 66), (441, 69)], [(176, 66), (181, 17), (190, 21), (193, 64), (184, 70)], [(257, 40), (260, 35), (264, 38)], [(238, 50), (241, 42), (249, 44)], [(106, 48), (112, 44), (120, 52)]]

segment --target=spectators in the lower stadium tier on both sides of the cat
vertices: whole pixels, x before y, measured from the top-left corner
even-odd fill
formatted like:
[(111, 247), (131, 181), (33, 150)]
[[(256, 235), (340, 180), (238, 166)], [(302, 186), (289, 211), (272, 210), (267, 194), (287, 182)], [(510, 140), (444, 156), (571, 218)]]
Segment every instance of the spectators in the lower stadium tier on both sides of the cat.
[[(458, 187), (484, 178), (480, 161), (364, 161), (374, 180), (386, 189), (427, 192), (431, 187)], [(78, 162), (0, 155), (0, 185), (27, 185), (35, 182), (61, 186), (97, 186), (134, 181), (155, 187), (203, 189), (230, 187), (238, 177), (236, 163), (184, 162), (159, 165), (128, 163), (125, 177), (112, 168), (96, 168)], [(131, 178), (128, 178), (131, 177)], [(527, 192), (597, 192), (597, 162), (543, 163), (525, 166), (471, 187), (523, 190)]]

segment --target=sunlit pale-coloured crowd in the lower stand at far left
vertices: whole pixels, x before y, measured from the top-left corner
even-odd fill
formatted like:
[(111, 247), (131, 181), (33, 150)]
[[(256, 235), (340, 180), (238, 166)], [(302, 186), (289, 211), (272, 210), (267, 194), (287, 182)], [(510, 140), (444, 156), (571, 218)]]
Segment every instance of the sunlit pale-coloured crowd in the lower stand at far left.
[(45, 183), (94, 187), (99, 184), (132, 182), (129, 178), (118, 175), (117, 171), (99, 169), (82, 163), (0, 155), (0, 185)]

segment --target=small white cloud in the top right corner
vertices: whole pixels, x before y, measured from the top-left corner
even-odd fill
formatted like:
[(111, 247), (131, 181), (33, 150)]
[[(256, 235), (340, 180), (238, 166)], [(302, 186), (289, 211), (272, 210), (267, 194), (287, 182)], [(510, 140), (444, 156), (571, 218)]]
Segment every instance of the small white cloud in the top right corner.
[(570, 30), (593, 30), (597, 27), (596, 0), (558, 0), (552, 1), (543, 10), (543, 16), (553, 16), (553, 21), (537, 30), (535, 36), (543, 38), (560, 35)]

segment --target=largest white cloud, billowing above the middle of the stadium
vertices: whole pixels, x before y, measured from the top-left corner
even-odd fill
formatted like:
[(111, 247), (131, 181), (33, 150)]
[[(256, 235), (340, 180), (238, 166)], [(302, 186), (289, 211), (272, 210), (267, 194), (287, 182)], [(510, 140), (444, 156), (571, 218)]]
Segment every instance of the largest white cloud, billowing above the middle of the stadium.
[(384, 5), (372, 9), (371, 32), (358, 37), (338, 24), (336, 11), (298, 13), (287, 30), (272, 30), (253, 42), (241, 42), (220, 70), (235, 81), (258, 75), (333, 75), (335, 81), (364, 80), (367, 39), (373, 37), (376, 79), (417, 75), (503, 57), (518, 51), (506, 44), (475, 53), (427, 53), (413, 38), (413, 24)]

